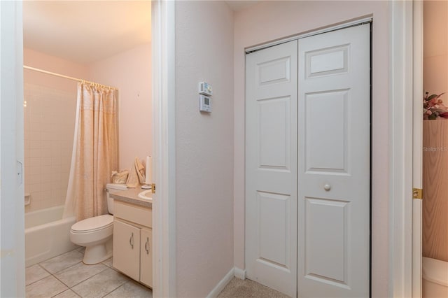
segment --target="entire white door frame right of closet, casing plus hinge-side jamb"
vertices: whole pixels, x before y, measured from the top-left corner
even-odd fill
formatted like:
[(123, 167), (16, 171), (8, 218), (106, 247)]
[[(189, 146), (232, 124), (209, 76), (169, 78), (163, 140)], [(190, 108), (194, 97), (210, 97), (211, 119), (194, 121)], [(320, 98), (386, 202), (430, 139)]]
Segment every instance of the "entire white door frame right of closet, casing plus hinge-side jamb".
[(421, 201), (412, 187), (421, 188), (422, 1), (390, 6), (389, 292), (421, 297)]

